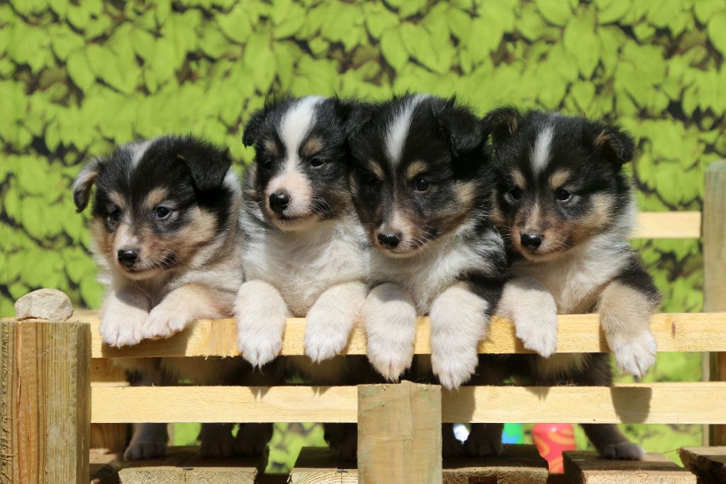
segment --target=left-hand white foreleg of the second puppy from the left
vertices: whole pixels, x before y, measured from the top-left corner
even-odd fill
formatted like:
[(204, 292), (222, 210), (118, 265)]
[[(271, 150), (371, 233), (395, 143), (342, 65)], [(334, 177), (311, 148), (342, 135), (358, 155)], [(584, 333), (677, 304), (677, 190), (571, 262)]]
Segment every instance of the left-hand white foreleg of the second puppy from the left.
[(282, 348), (282, 331), (289, 315), (280, 292), (263, 281), (248, 281), (240, 287), (234, 304), (237, 347), (253, 366), (274, 360)]

